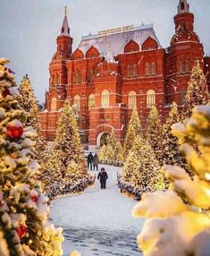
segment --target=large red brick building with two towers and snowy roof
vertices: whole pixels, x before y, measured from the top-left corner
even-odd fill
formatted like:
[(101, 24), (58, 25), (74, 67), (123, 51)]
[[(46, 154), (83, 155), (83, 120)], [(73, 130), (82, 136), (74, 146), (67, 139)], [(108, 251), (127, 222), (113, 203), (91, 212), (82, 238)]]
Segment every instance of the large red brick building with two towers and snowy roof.
[(142, 125), (152, 106), (163, 119), (173, 100), (181, 107), (195, 60), (208, 73), (210, 58), (204, 57), (187, 0), (180, 0), (174, 22), (175, 34), (167, 48), (161, 47), (151, 24), (141, 24), (82, 37), (72, 51), (65, 13), (57, 51), (49, 64), (46, 109), (40, 113), (43, 135), (49, 141), (54, 138), (66, 98), (78, 109), (87, 142), (98, 146), (112, 129), (123, 141), (134, 106)]

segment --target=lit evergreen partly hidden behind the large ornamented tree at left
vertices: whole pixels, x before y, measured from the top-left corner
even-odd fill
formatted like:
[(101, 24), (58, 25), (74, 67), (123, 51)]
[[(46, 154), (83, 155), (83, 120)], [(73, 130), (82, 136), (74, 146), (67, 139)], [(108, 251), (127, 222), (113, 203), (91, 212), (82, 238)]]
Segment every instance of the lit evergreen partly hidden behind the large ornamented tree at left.
[(29, 81), (29, 77), (26, 74), (26, 76), (23, 77), (19, 92), (21, 94), (20, 98), (20, 105), (26, 112), (26, 118), (24, 120), (24, 124), (26, 126), (32, 126), (33, 129), (38, 133), (37, 136), (37, 144), (36, 144), (36, 156), (38, 160), (41, 160), (43, 151), (45, 150), (45, 140), (41, 133), (41, 124), (38, 120), (38, 101), (35, 97), (34, 90), (32, 88), (32, 85)]

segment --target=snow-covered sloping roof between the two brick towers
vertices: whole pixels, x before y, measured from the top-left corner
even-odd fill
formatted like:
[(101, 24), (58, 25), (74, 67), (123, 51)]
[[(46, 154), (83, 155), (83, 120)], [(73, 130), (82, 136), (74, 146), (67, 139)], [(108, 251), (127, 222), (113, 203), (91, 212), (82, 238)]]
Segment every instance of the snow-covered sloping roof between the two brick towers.
[(86, 54), (88, 49), (93, 46), (97, 48), (101, 55), (110, 60), (113, 56), (123, 53), (124, 47), (130, 39), (133, 39), (141, 46), (149, 37), (154, 38), (158, 47), (161, 47), (153, 24), (141, 24), (138, 27), (131, 27), (130, 30), (120, 28), (118, 30), (104, 30), (102, 32), (99, 32), (97, 35), (88, 35), (81, 38), (79, 48), (83, 54)]

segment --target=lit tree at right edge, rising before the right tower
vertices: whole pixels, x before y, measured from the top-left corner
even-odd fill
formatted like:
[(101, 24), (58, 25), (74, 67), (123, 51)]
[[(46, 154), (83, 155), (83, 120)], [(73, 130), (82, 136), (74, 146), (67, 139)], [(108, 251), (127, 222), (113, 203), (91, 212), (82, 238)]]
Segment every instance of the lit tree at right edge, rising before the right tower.
[(206, 77), (197, 61), (192, 69), (191, 77), (188, 83), (188, 90), (183, 107), (183, 117), (191, 115), (193, 107), (207, 105), (209, 101), (209, 92), (206, 84)]

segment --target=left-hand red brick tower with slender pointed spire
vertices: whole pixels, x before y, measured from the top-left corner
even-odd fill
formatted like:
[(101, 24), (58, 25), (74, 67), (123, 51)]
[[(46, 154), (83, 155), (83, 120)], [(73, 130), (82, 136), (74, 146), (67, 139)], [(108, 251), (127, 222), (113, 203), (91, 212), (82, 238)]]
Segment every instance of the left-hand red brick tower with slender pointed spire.
[(55, 135), (58, 111), (63, 107), (66, 98), (66, 85), (68, 82), (66, 62), (71, 58), (73, 39), (67, 19), (65, 6), (63, 24), (60, 35), (56, 38), (57, 50), (49, 64), (49, 90), (46, 92), (46, 110), (40, 115), (43, 135), (53, 139)]

